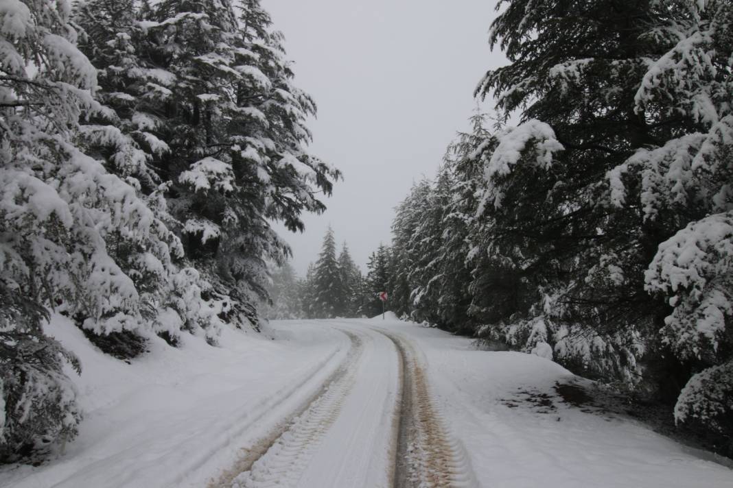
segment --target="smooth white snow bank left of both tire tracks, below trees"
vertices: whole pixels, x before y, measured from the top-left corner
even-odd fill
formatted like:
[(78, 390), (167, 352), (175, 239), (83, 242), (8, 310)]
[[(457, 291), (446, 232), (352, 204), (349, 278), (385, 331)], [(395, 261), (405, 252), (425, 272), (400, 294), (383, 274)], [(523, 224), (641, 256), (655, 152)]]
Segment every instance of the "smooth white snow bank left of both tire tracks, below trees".
[(281, 410), (320, 387), (348, 347), (343, 334), (313, 325), (300, 327), (298, 341), (225, 328), (220, 348), (205, 337), (183, 335), (180, 348), (151, 337), (150, 352), (127, 364), (60, 315), (47, 333), (81, 359), (81, 376), (67, 374), (84, 421), (46, 465), (0, 469), (2, 487), (205, 486)]

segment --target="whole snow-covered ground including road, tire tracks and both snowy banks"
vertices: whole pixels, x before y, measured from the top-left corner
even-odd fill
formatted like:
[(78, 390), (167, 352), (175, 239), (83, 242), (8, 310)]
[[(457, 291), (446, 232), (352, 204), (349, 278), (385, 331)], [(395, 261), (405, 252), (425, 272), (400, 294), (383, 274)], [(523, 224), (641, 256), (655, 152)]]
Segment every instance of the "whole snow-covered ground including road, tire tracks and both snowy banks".
[(709, 455), (562, 402), (576, 378), (547, 359), (394, 318), (154, 339), (133, 364), (62, 317), (48, 332), (81, 356), (85, 420), (1, 487), (733, 487)]

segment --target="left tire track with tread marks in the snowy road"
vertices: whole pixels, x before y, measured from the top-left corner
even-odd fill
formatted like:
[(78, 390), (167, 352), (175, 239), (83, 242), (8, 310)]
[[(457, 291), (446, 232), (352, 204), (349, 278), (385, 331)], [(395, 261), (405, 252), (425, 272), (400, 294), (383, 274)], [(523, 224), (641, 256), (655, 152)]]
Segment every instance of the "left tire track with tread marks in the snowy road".
[(356, 364), (364, 350), (363, 340), (357, 334), (337, 330), (346, 334), (353, 344), (342, 366), (298, 411), (249, 448), (235, 470), (224, 473), (213, 486), (292, 487), (298, 482), (320, 438), (339, 416), (354, 384)]

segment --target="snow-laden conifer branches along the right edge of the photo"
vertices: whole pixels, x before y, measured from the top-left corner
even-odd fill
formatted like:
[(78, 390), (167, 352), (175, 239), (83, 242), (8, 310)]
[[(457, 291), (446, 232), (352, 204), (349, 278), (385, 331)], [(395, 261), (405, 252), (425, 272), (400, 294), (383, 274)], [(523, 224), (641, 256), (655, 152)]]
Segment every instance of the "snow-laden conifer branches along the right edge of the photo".
[[(695, 373), (675, 419), (703, 426), (733, 454), (733, 4), (660, 1), (675, 12), (648, 36), (668, 51), (649, 63), (635, 96), (647, 119), (682, 130), (609, 173), (617, 206), (638, 199), (644, 223), (674, 236), (645, 274), (671, 307), (662, 342)], [(637, 184), (629, 191), (629, 181)], [(661, 233), (660, 233), (661, 234)], [(662, 234), (663, 235), (663, 234)]]

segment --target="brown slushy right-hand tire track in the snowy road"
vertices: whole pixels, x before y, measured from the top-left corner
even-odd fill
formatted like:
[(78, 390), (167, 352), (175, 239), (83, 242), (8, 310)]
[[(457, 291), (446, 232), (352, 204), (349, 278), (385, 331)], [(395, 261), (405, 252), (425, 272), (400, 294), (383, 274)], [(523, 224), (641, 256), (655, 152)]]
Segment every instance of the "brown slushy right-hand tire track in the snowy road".
[(394, 461), (396, 488), (474, 488), (479, 484), (463, 445), (443, 426), (430, 399), (424, 367), (408, 341), (374, 329), (394, 342), (402, 367), (402, 394)]

